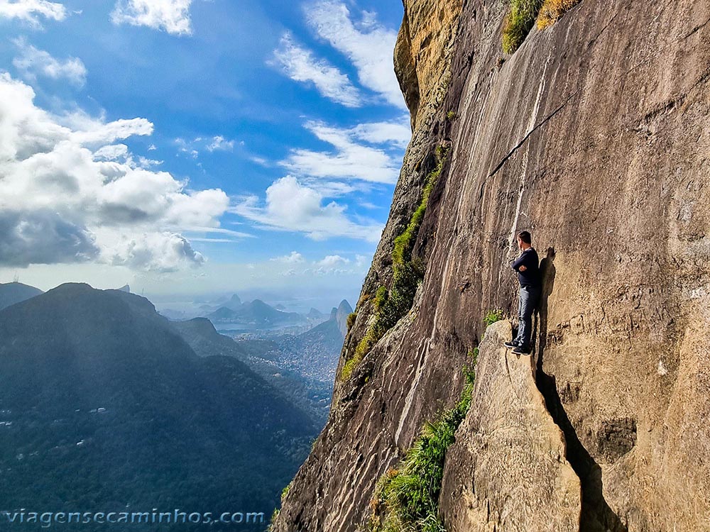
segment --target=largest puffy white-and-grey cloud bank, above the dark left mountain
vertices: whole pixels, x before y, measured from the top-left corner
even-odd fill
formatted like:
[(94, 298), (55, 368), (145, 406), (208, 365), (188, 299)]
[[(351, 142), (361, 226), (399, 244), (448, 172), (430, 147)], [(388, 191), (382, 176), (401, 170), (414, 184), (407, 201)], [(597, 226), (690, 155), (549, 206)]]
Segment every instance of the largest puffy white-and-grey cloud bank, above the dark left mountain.
[(182, 228), (219, 229), (229, 198), (133, 163), (113, 144), (150, 135), (145, 118), (53, 116), (0, 74), (0, 265), (95, 261), (167, 271), (204, 257)]

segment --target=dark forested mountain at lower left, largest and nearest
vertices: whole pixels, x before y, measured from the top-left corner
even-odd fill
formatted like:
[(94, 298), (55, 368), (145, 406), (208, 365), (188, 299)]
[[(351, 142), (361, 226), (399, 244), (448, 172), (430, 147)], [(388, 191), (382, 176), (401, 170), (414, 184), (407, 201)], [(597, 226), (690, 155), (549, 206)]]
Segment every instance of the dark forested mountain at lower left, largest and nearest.
[(205, 356), (147, 299), (88, 284), (1, 310), (3, 504), (268, 519), (320, 426), (226, 340)]

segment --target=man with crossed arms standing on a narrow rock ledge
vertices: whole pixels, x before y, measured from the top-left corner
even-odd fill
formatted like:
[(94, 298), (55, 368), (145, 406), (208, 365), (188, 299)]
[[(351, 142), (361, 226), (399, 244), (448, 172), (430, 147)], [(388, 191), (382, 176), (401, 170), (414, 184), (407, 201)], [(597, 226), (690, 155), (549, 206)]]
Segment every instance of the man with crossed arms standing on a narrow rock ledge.
[(520, 282), (520, 303), (518, 305), (518, 336), (506, 347), (513, 348), (516, 355), (530, 354), (530, 338), (532, 336), (532, 311), (535, 310), (540, 300), (540, 263), (537, 251), (532, 248), (532, 238), (528, 231), (518, 233), (518, 248), (523, 250), (520, 257), (510, 266), (518, 272)]

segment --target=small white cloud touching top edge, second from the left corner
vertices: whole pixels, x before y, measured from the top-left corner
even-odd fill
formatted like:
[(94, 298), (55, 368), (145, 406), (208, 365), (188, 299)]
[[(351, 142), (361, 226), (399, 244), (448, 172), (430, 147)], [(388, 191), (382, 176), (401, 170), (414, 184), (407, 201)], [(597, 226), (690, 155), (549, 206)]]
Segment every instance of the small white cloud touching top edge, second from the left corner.
[(192, 0), (119, 0), (111, 21), (147, 26), (173, 35), (192, 35), (190, 21)]

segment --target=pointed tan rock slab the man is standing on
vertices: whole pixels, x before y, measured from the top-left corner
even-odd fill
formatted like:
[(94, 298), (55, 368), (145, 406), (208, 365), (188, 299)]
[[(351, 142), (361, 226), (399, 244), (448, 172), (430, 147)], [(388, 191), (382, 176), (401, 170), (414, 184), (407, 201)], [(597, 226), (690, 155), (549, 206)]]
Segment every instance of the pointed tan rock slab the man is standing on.
[(503, 342), (510, 322), (481, 340), (472, 404), (444, 470), (449, 532), (577, 532), (579, 477), (565, 459), (564, 436), (547, 411), (530, 357)]

